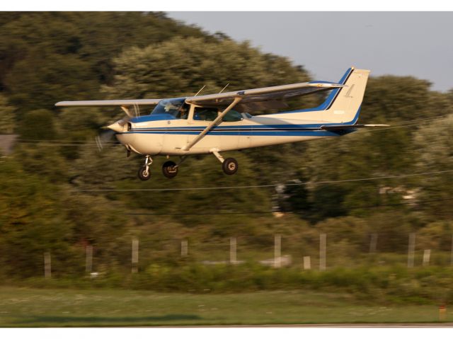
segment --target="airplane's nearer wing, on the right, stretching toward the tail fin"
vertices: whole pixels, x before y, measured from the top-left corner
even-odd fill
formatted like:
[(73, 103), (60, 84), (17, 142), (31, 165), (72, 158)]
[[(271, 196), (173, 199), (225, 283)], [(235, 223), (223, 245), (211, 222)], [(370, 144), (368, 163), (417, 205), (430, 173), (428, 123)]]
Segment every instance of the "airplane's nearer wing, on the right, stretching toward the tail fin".
[(280, 99), (306, 96), (307, 94), (328, 91), (333, 88), (343, 87), (342, 84), (328, 81), (311, 81), (299, 84), (272, 86), (263, 88), (246, 89), (227, 93), (208, 94), (206, 96), (193, 96), (185, 99), (186, 103), (194, 103), (202, 106), (228, 106), (236, 98), (241, 101), (236, 105), (239, 110), (263, 110), (269, 108), (285, 107)]

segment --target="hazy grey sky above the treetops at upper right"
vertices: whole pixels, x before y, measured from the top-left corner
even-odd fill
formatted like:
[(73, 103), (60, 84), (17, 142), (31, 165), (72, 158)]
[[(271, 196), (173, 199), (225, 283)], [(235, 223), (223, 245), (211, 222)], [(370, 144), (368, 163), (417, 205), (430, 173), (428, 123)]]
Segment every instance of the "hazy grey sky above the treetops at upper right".
[(289, 57), (316, 80), (350, 66), (453, 88), (453, 12), (167, 12), (210, 33)]

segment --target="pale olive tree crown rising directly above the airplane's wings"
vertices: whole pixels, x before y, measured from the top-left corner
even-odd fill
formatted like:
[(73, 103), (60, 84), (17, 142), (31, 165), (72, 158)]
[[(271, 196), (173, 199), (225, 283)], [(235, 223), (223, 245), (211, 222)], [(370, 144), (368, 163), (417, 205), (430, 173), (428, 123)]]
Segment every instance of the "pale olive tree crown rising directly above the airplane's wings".
[[(158, 45), (132, 47), (114, 59), (115, 79), (104, 91), (110, 98), (161, 98), (216, 93), (308, 80), (304, 69), (282, 57), (264, 56), (248, 42), (209, 42), (173, 38)], [(272, 65), (277, 72), (269, 72)]]

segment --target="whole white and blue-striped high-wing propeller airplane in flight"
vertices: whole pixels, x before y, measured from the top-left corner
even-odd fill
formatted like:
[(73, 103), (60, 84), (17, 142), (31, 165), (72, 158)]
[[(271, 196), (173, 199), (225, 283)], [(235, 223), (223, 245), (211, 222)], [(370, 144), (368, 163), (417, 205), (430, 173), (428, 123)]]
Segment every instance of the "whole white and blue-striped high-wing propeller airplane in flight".
[[(361, 127), (357, 125), (369, 71), (348, 69), (338, 83), (310, 81), (228, 93), (165, 99), (61, 101), (56, 106), (120, 106), (127, 117), (107, 128), (127, 149), (145, 156), (139, 168), (141, 180), (151, 176), (151, 156), (179, 156), (178, 163), (166, 161), (164, 176), (174, 178), (180, 164), (193, 154), (214, 154), (226, 174), (234, 174), (238, 163), (224, 159), (225, 151), (338, 137)], [(282, 100), (331, 91), (316, 108), (250, 115), (250, 112), (285, 107)], [(222, 92), (222, 91), (221, 91)], [(197, 93), (198, 94), (198, 93)], [(155, 105), (149, 115), (133, 116), (131, 108)], [(104, 137), (98, 139), (102, 142)]]

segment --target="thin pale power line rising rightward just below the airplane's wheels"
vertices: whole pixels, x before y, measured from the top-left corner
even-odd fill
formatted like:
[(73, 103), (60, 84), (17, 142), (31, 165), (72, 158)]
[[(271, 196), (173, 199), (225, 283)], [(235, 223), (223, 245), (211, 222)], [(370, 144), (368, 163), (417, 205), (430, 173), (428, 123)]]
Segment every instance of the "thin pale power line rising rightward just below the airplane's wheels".
[(372, 178), (357, 178), (357, 179), (345, 179), (345, 180), (326, 180), (326, 181), (314, 181), (306, 183), (286, 183), (286, 184), (272, 184), (272, 185), (244, 185), (244, 186), (217, 186), (217, 187), (198, 187), (198, 188), (99, 188), (92, 190), (79, 190), (80, 192), (164, 192), (164, 191), (181, 191), (181, 190), (231, 190), (231, 189), (241, 189), (241, 188), (276, 188), (281, 186), (302, 186), (302, 185), (325, 185), (332, 183), (349, 183), (355, 181), (367, 181), (367, 180), (382, 180), (382, 179), (396, 179), (396, 178), (407, 178), (411, 176), (430, 176), (434, 174), (449, 173), (453, 170), (447, 171), (435, 171), (435, 172), (425, 172), (425, 173), (410, 173), (410, 174), (401, 174), (398, 176), (379, 176)]

